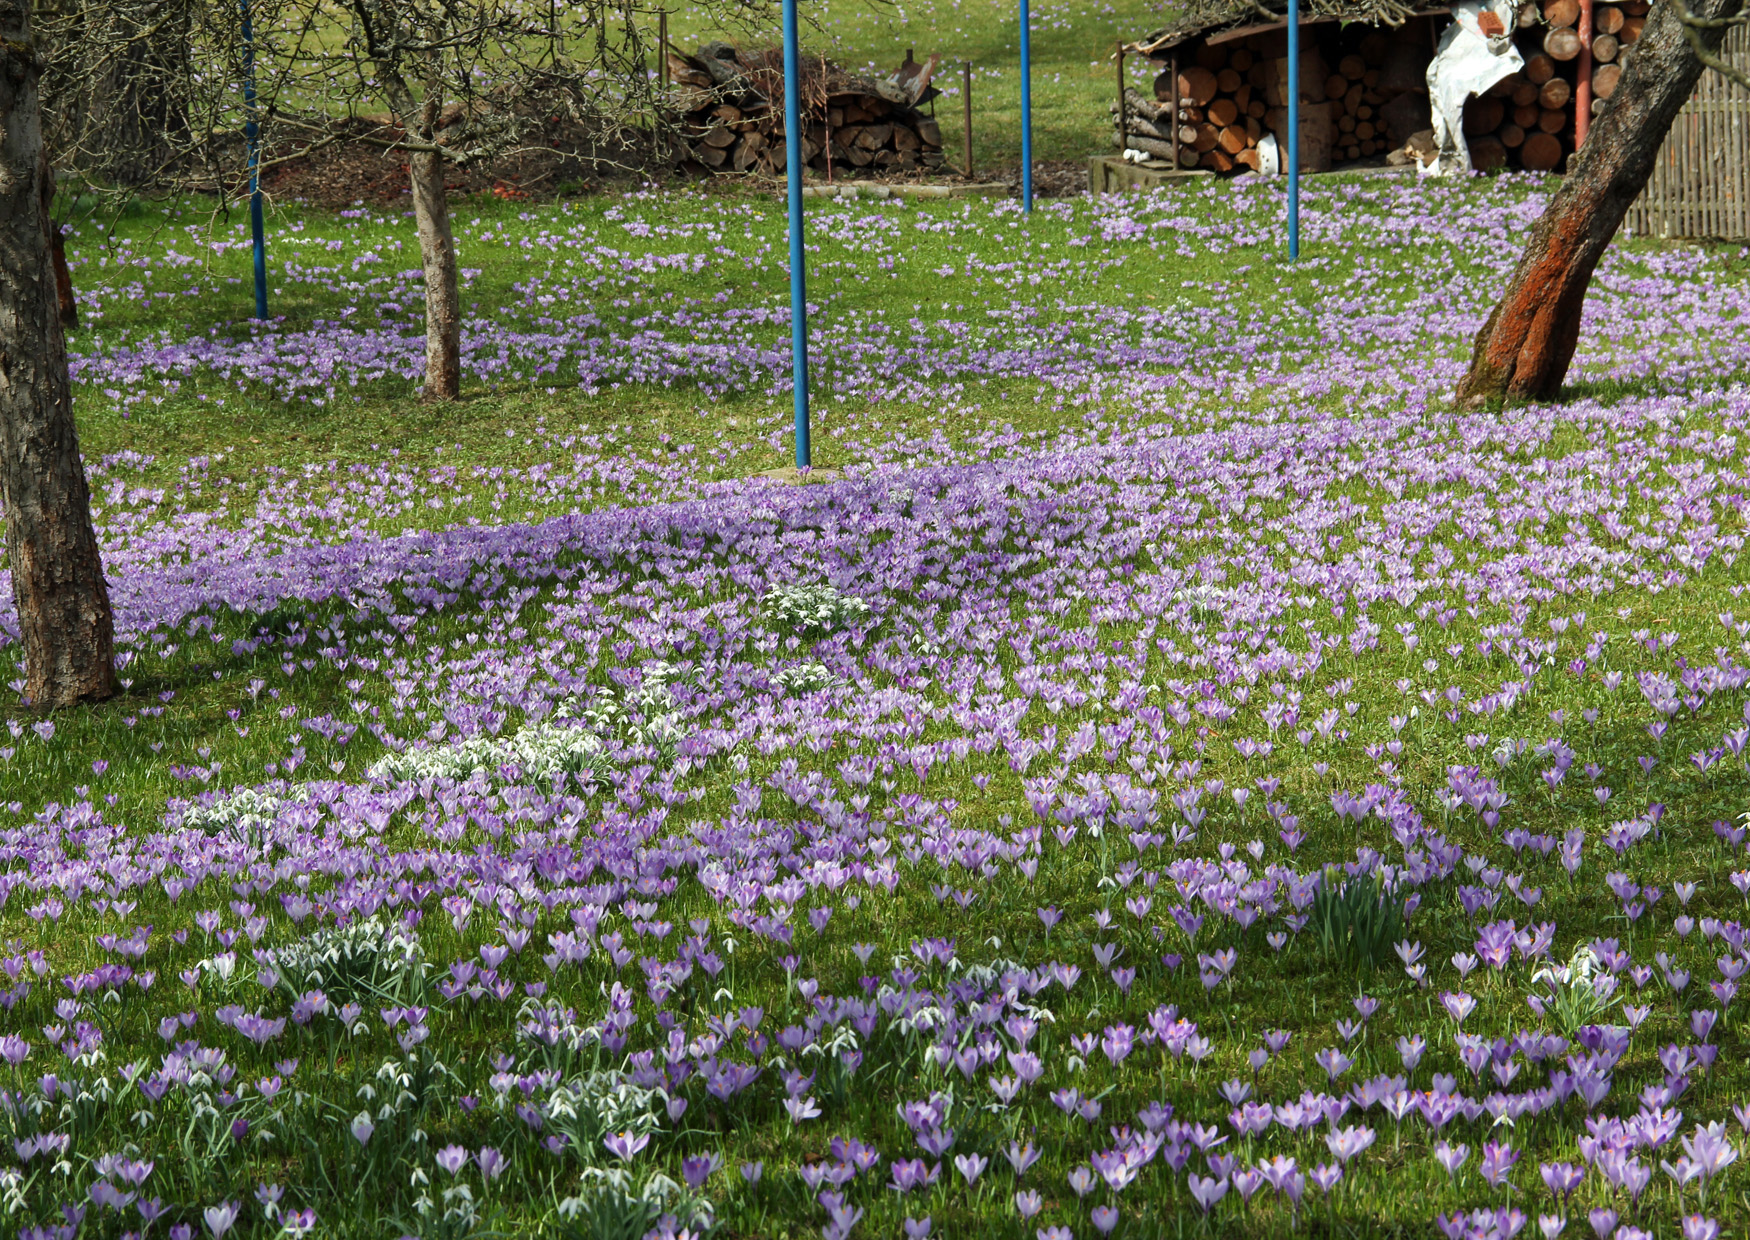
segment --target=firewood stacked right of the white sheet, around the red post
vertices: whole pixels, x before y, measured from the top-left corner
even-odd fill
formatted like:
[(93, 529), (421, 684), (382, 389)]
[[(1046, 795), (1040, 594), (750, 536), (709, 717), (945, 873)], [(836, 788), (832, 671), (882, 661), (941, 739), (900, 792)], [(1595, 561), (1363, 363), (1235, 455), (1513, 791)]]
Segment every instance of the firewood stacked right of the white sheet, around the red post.
[[(1622, 56), (1647, 24), (1647, 0), (1592, 5), (1592, 114), (1603, 110), (1622, 75)], [(1465, 107), (1474, 166), (1552, 171), (1573, 152), (1578, 103), (1578, 0), (1536, 0), (1519, 9), (1524, 68)]]

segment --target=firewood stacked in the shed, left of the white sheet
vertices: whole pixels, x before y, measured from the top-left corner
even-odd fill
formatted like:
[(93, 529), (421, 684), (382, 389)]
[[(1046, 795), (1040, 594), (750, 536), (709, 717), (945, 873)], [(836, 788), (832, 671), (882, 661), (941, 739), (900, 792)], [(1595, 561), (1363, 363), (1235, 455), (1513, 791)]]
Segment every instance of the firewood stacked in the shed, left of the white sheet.
[[(1155, 98), (1125, 94), (1125, 142), (1185, 168), (1258, 168), (1258, 145), (1286, 145), (1286, 49), (1269, 35), (1186, 49), (1190, 65), (1155, 79)], [(1300, 157), (1307, 168), (1382, 156), (1428, 128), (1426, 42), (1372, 30), (1328, 65), (1318, 47), (1300, 59)], [(1118, 110), (1116, 101), (1110, 105)], [(1174, 135), (1174, 129), (1178, 131)]]

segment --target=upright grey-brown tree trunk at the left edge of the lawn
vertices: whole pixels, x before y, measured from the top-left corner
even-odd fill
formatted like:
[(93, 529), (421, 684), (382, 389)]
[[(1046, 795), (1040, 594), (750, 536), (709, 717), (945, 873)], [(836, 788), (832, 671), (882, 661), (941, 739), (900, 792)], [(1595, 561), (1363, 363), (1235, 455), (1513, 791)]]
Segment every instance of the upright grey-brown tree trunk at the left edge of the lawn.
[(33, 707), (116, 693), (116, 635), (74, 432), (42, 206), (30, 0), (0, 0), (0, 504)]

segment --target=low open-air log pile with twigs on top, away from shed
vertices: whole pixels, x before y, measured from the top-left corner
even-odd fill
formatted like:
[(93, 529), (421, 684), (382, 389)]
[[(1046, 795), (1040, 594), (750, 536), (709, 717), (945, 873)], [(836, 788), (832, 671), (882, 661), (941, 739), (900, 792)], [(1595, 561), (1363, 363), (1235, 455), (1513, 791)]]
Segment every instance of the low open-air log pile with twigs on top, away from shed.
[[(936, 61), (906, 54), (898, 73), (870, 79), (803, 56), (803, 164), (822, 177), (940, 166), (942, 131), (919, 110), (938, 94), (929, 84)], [(693, 56), (670, 51), (668, 77), (690, 157), (714, 171), (784, 175), (782, 52), (721, 42)]]

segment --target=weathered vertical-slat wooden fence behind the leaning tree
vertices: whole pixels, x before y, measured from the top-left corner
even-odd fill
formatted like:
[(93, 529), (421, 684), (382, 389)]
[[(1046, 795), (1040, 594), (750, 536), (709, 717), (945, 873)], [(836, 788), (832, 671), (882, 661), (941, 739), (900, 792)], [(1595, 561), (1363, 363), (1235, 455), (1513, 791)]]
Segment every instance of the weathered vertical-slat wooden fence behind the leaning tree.
[[(1727, 31), (1722, 52), (1750, 65), (1750, 30)], [(1750, 241), (1750, 91), (1703, 72), (1624, 226), (1636, 236)]]

